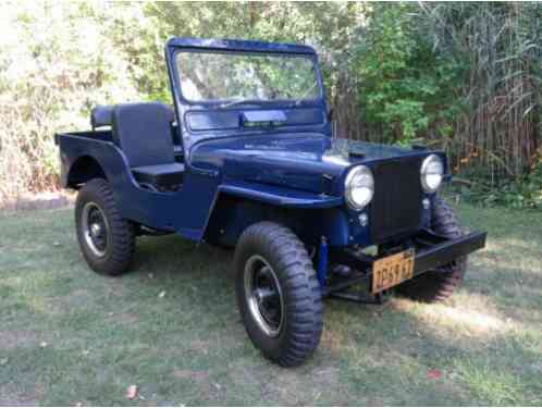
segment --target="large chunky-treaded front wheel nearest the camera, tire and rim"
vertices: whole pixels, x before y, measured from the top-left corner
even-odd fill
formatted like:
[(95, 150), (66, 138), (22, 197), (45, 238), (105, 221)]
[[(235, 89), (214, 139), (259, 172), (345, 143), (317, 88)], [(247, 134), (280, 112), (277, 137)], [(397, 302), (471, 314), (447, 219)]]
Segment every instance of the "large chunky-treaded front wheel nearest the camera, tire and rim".
[(288, 228), (249, 226), (235, 249), (236, 293), (252, 344), (281, 366), (298, 366), (318, 347), (322, 298), (307, 250)]

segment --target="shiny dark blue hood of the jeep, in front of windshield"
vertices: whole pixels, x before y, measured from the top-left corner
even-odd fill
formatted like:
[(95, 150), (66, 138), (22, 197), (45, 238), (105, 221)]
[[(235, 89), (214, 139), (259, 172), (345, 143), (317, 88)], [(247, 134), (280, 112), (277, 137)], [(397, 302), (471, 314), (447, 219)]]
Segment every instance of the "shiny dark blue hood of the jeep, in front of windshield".
[(359, 140), (331, 139), (320, 134), (250, 135), (196, 143), (192, 165), (217, 170), (225, 178), (334, 194), (349, 166), (412, 150)]

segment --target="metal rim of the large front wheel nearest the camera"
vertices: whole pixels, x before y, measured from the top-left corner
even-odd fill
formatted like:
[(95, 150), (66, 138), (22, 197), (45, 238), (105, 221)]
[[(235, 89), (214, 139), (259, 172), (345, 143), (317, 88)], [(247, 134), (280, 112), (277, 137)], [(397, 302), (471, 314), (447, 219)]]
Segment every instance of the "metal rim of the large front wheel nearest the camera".
[(284, 325), (284, 299), (275, 272), (259, 255), (245, 264), (245, 298), (258, 326), (276, 337)]

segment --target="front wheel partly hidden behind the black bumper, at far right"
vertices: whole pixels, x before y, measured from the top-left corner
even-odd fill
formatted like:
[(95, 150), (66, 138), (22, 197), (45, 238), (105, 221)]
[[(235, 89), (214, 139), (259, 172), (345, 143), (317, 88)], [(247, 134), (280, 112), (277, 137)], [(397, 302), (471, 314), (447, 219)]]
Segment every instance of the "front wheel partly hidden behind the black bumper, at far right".
[[(458, 238), (463, 231), (454, 210), (441, 198), (434, 200), (431, 228), (447, 238)], [(439, 271), (428, 271), (397, 286), (397, 292), (415, 300), (442, 301), (459, 286), (467, 270), (467, 257), (460, 257), (443, 265)]]

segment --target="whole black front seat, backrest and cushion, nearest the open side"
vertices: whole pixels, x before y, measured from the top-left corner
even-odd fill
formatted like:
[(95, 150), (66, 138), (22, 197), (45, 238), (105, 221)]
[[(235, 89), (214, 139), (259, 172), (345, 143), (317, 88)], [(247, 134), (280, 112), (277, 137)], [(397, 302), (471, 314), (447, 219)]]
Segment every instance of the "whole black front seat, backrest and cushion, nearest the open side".
[(173, 110), (162, 103), (114, 107), (113, 140), (141, 186), (164, 191), (175, 190), (183, 183), (184, 165), (175, 161), (171, 135), (174, 119)]

